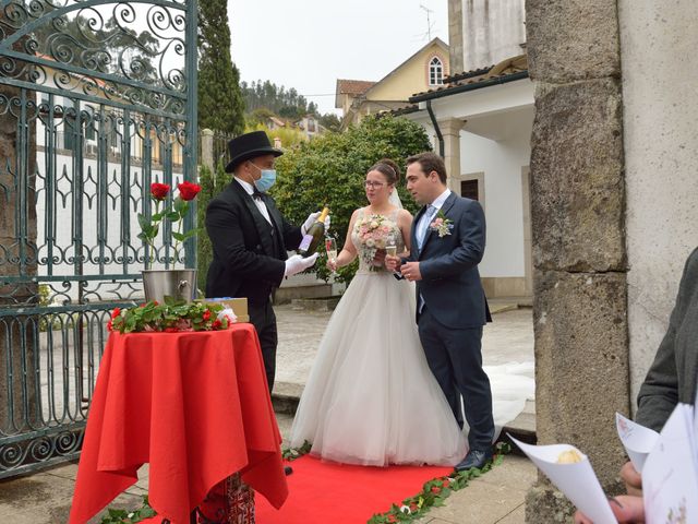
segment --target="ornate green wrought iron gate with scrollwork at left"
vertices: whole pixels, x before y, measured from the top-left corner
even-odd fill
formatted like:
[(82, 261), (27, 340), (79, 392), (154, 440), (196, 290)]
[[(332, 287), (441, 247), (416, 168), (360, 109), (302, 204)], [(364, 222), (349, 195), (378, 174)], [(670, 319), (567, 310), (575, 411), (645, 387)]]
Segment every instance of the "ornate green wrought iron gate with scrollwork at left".
[(0, 478), (79, 454), (110, 310), (195, 266), (136, 219), (195, 166), (195, 1), (0, 2)]

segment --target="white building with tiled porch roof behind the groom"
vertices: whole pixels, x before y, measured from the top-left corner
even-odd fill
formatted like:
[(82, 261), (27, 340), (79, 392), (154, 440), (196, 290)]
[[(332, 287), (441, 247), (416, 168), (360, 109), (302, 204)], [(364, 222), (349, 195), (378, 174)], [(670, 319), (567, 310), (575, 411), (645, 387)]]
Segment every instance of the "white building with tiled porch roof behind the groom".
[(524, 1), (452, 1), (449, 16), (452, 68), (470, 70), (413, 95), (414, 105), (398, 112), (432, 138), (446, 160), (449, 188), (484, 209), (480, 275), (488, 297), (530, 297), (533, 84), (524, 55)]

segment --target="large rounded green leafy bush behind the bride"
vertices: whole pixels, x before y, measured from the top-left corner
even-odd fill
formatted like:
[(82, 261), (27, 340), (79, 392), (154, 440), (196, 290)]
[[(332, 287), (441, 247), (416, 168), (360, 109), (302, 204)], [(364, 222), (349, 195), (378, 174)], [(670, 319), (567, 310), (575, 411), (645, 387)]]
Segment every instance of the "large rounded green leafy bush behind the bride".
[[(430, 151), (424, 130), (404, 118), (365, 118), (345, 133), (325, 133), (303, 142), (277, 160), (278, 181), (272, 189), (278, 207), (291, 224), (302, 224), (309, 213), (324, 204), (332, 213), (332, 230), (337, 246), (344, 246), (352, 212), (366, 205), (363, 180), (368, 169), (383, 157), (399, 166), (413, 154)], [(410, 212), (417, 206), (398, 182), (402, 205)], [(348, 282), (356, 263), (338, 271), (338, 281)], [(315, 264), (318, 277), (327, 279), (322, 261)]]

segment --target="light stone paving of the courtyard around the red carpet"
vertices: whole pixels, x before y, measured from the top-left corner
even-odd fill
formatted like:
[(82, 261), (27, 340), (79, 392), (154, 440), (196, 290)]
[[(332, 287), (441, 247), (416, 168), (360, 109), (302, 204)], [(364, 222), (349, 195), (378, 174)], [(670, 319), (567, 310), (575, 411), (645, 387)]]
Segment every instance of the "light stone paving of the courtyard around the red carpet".
[[(510, 302), (492, 303), (495, 314), (483, 337), (485, 365), (533, 360), (533, 330), (530, 309), (515, 309)], [(329, 319), (329, 312), (294, 309), (292, 305), (276, 308), (279, 323), (277, 392), (293, 398), (300, 395), (312, 366), (317, 344)], [(282, 434), (288, 434), (292, 416), (277, 413)], [(534, 403), (513, 427), (534, 432)], [(65, 464), (21, 478), (0, 480), (0, 523), (65, 523), (77, 471)], [(136, 485), (119, 496), (113, 508), (135, 508), (147, 493), (147, 465)], [(454, 492), (442, 508), (432, 509), (420, 524), (515, 524), (524, 523), (526, 491), (535, 481), (535, 467), (525, 457), (508, 455), (504, 463), (486, 475)], [(377, 511), (378, 509), (376, 509)], [(93, 519), (89, 524), (99, 523)], [(264, 524), (264, 523), (260, 523)]]

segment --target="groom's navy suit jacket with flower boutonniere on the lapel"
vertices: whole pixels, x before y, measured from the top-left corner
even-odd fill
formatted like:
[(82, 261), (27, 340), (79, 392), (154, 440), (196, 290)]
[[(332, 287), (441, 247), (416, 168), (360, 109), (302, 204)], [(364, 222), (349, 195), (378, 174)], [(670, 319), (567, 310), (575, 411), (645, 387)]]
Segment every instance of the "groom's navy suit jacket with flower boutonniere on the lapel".
[(437, 231), (428, 228), (419, 250), (416, 229), (424, 211), (425, 207), (412, 222), (412, 250), (408, 259), (420, 263), (418, 307), (421, 295), (434, 318), (448, 327), (484, 325), (492, 319), (478, 271), (485, 243), (482, 206), (474, 200), (450, 193), (434, 217), (443, 214), (452, 222), (450, 235), (440, 237)]

